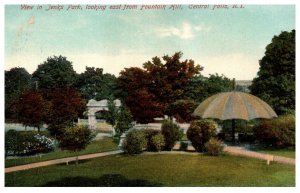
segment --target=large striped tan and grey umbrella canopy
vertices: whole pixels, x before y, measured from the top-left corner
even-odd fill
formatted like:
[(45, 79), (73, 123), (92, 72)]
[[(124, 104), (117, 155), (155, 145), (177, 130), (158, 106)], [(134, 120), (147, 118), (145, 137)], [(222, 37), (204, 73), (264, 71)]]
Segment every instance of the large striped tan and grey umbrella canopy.
[(192, 115), (221, 120), (277, 117), (266, 102), (251, 94), (238, 91), (223, 92), (207, 98)]

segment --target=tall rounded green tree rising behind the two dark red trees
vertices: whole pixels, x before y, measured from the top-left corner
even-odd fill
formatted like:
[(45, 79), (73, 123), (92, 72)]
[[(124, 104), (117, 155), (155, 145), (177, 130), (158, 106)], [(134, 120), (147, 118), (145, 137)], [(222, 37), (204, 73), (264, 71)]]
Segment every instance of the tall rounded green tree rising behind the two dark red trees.
[(47, 61), (40, 64), (32, 74), (33, 81), (36, 82), (38, 88), (48, 90), (72, 86), (76, 77), (72, 62), (63, 56), (47, 58)]

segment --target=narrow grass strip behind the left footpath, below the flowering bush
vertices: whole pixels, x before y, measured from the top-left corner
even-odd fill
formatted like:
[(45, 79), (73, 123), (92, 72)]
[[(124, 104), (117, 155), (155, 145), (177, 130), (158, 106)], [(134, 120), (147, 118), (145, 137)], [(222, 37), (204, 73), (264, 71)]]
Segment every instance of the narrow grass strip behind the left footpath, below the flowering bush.
[[(85, 150), (79, 151), (78, 155), (98, 153), (103, 151), (115, 150), (117, 149), (117, 144), (114, 143), (112, 138), (104, 138), (101, 140), (93, 141), (89, 144)], [(6, 159), (5, 167), (35, 163), (40, 161), (64, 158), (64, 157), (72, 157), (76, 156), (75, 152), (70, 151), (62, 151), (60, 149), (55, 150), (54, 152), (50, 152), (40, 156), (30, 156), (30, 157), (19, 157), (16, 159)]]

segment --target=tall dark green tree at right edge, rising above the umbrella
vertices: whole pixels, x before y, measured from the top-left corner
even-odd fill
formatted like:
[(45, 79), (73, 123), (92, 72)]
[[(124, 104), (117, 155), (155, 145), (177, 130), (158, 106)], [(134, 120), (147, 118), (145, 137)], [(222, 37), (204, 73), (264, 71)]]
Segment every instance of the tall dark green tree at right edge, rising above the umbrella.
[(267, 45), (251, 93), (271, 105), (277, 114), (295, 110), (295, 30), (281, 32)]

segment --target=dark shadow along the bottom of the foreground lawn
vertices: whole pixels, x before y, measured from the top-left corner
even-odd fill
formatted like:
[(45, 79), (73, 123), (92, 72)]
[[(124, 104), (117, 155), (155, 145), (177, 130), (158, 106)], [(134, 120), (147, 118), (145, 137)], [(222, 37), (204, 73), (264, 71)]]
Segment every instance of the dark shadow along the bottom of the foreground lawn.
[(57, 181), (48, 182), (44, 187), (150, 187), (162, 186), (147, 180), (130, 180), (121, 174), (104, 174), (99, 178), (90, 177), (66, 177)]

